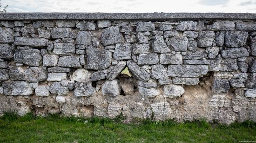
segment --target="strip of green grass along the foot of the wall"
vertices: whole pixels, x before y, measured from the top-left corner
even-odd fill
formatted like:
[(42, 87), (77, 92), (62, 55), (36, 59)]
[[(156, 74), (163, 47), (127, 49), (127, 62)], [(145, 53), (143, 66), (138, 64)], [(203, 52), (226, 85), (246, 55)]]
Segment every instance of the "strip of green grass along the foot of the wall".
[[(246, 121), (223, 125), (202, 121), (176, 123), (122, 118), (75, 118), (33, 114), (19, 117), (5, 113), (0, 117), (0, 143), (170, 143), (256, 141), (256, 123)], [(84, 121), (88, 120), (85, 124)]]

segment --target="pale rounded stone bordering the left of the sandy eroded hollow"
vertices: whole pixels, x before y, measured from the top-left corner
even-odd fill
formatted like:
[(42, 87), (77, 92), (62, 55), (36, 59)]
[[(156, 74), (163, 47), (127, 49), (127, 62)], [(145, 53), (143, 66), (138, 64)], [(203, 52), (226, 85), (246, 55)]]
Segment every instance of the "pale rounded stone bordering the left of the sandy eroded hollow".
[(182, 96), (185, 93), (185, 90), (182, 86), (169, 84), (163, 87), (164, 96), (169, 98), (175, 98)]

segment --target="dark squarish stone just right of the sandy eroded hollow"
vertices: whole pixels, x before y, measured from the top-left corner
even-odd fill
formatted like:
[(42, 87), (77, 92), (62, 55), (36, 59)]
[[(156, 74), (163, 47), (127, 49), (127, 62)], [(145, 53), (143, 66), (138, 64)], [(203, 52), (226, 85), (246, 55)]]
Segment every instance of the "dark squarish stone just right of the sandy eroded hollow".
[(213, 81), (213, 92), (215, 93), (227, 93), (230, 85), (228, 79), (215, 79)]

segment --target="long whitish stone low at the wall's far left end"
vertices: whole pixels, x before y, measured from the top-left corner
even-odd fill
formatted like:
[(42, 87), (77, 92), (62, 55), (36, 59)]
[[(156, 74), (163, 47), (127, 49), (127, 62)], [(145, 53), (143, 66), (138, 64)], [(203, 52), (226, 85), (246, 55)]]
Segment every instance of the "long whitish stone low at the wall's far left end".
[(26, 81), (5, 81), (3, 82), (5, 95), (32, 95), (34, 89)]

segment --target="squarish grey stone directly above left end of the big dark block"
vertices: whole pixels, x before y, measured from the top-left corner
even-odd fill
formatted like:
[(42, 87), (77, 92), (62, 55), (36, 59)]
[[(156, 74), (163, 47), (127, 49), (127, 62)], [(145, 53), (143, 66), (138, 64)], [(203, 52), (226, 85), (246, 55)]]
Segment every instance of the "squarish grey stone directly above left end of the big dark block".
[(76, 37), (76, 44), (91, 45), (93, 44), (93, 32), (91, 31), (79, 31)]

